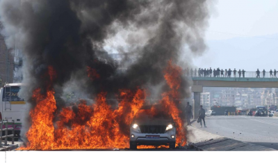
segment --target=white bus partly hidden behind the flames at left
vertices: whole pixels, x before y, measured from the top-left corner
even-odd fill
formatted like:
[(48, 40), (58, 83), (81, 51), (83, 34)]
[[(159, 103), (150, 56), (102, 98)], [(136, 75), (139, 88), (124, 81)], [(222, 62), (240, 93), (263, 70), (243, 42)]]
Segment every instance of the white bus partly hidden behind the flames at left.
[(0, 120), (8, 121), (8, 127), (12, 127), (12, 121), (15, 121), (15, 138), (19, 137), (26, 114), (26, 102), (17, 96), (20, 86), (19, 83), (5, 84), (0, 90)]

